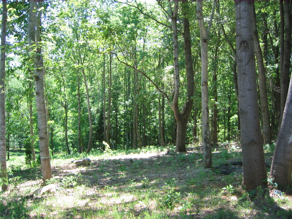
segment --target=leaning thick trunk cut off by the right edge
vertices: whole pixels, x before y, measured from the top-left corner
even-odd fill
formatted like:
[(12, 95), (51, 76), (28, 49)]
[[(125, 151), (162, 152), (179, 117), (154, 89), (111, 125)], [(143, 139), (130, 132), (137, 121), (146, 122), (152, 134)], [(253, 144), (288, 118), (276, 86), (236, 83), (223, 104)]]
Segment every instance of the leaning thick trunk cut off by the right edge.
[(270, 175), (274, 178), (274, 182), (281, 187), (291, 186), (292, 172), (292, 78), (286, 105), (284, 109), (283, 119), (276, 143), (274, 157), (272, 161)]

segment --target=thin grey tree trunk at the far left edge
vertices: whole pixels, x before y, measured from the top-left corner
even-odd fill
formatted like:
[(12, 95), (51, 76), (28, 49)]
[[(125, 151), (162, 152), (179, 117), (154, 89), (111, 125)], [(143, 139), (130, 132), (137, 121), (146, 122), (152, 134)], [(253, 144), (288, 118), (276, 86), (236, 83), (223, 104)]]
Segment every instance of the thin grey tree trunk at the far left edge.
[(5, 63), (6, 63), (7, 1), (2, 1), (1, 57), (0, 57), (0, 178), (2, 190), (8, 188), (6, 166), (6, 114), (5, 114)]

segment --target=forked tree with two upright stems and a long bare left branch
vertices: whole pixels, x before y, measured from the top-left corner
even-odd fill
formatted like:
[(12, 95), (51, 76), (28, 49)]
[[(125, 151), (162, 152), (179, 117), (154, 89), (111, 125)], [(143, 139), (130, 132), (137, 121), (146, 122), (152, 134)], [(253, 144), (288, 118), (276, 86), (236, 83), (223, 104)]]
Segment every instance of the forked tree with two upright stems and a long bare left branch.
[[(116, 1), (119, 2), (119, 1)], [(122, 3), (122, 2), (119, 2)], [(187, 131), (187, 123), (189, 121), (190, 113), (193, 106), (193, 96), (194, 96), (194, 71), (192, 67), (192, 53), (191, 53), (191, 38), (190, 38), (190, 24), (189, 20), (187, 18), (187, 11), (184, 11), (183, 15), (183, 30), (184, 32), (181, 32), (178, 30), (178, 11), (179, 11), (179, 1), (174, 1), (174, 5), (172, 6), (169, 2), (169, 9), (170, 12), (168, 12), (164, 6), (163, 1), (157, 0), (157, 3), (161, 7), (162, 11), (168, 16), (169, 20), (171, 20), (171, 25), (164, 24), (162, 22), (159, 22), (157, 19), (152, 17), (151, 15), (144, 13), (140, 6), (134, 6), (127, 4), (131, 7), (137, 8), (143, 15), (146, 15), (147, 17), (151, 18), (155, 22), (157, 22), (160, 25), (163, 25), (169, 29), (172, 30), (172, 47), (173, 47), (173, 69), (174, 69), (174, 91), (173, 91), (173, 100), (172, 103), (166, 93), (164, 93), (149, 77), (145, 75), (144, 72), (139, 71), (135, 66), (131, 66), (126, 62), (121, 63), (127, 65), (128, 67), (134, 68), (136, 71), (140, 72), (142, 75), (147, 77), (148, 80), (156, 87), (156, 89), (162, 93), (167, 101), (169, 106), (171, 107), (173, 114), (176, 119), (177, 124), (177, 132), (176, 132), (176, 140), (175, 140), (175, 146), (176, 150), (179, 152), (186, 152), (186, 131)], [(188, 8), (188, 2), (183, 1), (183, 8)], [(183, 105), (182, 110), (180, 111), (179, 106), (179, 99), (180, 99), (180, 69), (179, 69), (179, 46), (178, 46), (178, 33), (180, 33), (183, 36), (184, 39), (184, 52), (185, 52), (185, 66), (186, 66), (186, 77), (187, 77), (187, 99), (185, 101), (185, 104)]]

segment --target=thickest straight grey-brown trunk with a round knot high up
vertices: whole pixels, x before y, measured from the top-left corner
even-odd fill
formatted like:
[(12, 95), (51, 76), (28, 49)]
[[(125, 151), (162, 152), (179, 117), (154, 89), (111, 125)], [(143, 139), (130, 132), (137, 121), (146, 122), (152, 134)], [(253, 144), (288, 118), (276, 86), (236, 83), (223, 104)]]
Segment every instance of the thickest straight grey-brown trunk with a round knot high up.
[(239, 116), (246, 190), (267, 185), (253, 45), (253, 1), (235, 1)]

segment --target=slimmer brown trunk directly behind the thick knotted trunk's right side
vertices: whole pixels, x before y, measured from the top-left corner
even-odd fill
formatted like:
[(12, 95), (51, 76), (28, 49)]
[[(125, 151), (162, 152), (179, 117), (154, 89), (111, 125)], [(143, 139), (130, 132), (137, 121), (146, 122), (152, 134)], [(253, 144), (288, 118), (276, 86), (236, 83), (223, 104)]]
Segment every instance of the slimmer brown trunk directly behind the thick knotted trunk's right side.
[(262, 49), (260, 48), (260, 41), (258, 39), (258, 29), (256, 24), (256, 10), (253, 2), (253, 23), (254, 23), (254, 33), (253, 40), (256, 51), (256, 61), (258, 64), (258, 78), (260, 85), (260, 109), (262, 111), (263, 120), (263, 142), (264, 145), (272, 143), (271, 126), (270, 126), (270, 114), (268, 107), (268, 97), (267, 97), (267, 86), (266, 86), (266, 69), (264, 65), (264, 59), (262, 54)]

